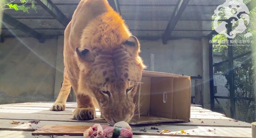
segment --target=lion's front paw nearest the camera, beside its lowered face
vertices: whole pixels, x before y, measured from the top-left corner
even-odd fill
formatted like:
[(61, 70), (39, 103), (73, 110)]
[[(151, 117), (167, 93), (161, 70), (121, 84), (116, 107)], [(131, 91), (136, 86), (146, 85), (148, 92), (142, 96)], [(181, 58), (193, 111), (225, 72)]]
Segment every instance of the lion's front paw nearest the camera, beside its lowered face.
[(94, 119), (96, 111), (94, 108), (77, 108), (73, 111), (73, 118), (76, 120)]

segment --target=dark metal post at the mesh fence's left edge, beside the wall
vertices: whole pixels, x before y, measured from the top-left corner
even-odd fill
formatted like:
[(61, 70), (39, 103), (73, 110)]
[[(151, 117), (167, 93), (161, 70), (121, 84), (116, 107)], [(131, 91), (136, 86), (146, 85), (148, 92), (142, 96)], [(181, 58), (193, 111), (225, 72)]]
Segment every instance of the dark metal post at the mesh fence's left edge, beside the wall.
[[(212, 36), (209, 37), (209, 40), (212, 39)], [(211, 110), (214, 111), (214, 81), (213, 81), (213, 57), (212, 57), (212, 45), (213, 43), (209, 44), (209, 83), (210, 83), (210, 105)]]

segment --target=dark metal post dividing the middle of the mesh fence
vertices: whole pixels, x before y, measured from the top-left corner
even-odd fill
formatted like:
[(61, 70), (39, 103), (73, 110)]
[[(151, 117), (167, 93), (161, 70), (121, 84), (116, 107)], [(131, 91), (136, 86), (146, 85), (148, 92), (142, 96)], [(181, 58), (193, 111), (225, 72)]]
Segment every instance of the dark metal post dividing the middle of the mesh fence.
[[(227, 28), (227, 34), (232, 31), (232, 23), (231, 20), (229, 20), (228, 28)], [(230, 43), (230, 40), (233, 41), (233, 39), (228, 38), (228, 75), (229, 75), (229, 92), (230, 92), (230, 117), (234, 119), (235, 117), (235, 91), (234, 91), (234, 65), (233, 65), (233, 46)]]

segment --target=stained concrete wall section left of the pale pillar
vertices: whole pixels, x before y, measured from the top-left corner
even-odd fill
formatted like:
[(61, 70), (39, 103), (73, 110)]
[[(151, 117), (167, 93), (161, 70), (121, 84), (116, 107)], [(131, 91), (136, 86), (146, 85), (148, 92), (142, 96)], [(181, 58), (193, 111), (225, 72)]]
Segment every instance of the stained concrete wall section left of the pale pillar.
[(53, 101), (57, 39), (0, 43), (0, 104)]

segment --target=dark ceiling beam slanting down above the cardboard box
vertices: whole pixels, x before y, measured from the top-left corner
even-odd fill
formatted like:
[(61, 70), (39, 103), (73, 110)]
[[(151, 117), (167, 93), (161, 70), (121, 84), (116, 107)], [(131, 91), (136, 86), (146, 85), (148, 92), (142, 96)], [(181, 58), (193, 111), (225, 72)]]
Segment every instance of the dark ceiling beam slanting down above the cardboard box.
[(178, 20), (180, 19), (183, 11), (185, 10), (189, 0), (179, 0), (173, 13), (171, 19), (168, 22), (168, 25), (165, 29), (164, 34), (162, 35), (162, 43), (167, 44), (168, 37), (171, 35), (175, 26), (177, 25)]

